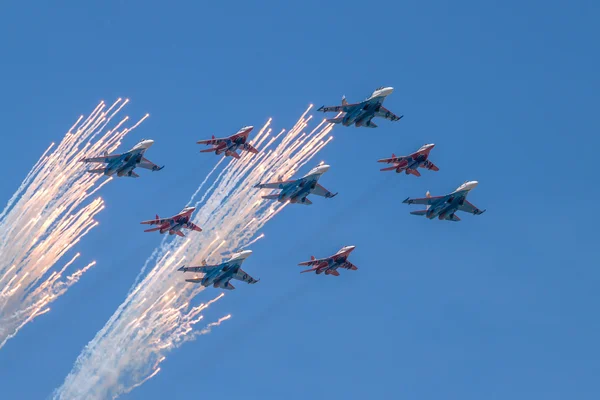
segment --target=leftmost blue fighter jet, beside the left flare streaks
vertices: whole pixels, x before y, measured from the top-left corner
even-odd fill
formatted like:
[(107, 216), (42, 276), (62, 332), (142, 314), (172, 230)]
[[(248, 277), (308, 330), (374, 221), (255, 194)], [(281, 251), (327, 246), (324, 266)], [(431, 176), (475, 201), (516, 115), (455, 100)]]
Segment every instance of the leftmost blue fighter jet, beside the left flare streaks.
[(117, 174), (119, 177), (129, 176), (131, 178), (139, 178), (139, 175), (133, 171), (135, 168), (145, 168), (152, 171), (160, 171), (164, 168), (164, 165), (159, 167), (144, 157), (146, 150), (148, 150), (153, 144), (154, 140), (142, 139), (126, 153), (108, 155), (108, 153), (105, 152), (104, 156), (82, 158), (79, 161), (86, 163), (95, 162), (107, 164), (105, 167), (89, 170), (88, 172), (92, 174), (104, 174), (106, 176), (113, 176), (114, 174)]

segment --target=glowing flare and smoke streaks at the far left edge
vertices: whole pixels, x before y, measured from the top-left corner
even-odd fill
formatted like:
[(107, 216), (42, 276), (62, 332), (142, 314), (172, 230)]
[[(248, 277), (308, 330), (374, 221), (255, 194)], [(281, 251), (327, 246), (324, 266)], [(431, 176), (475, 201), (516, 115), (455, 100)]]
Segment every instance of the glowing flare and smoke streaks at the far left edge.
[[(79, 117), (62, 142), (48, 147), (27, 174), (0, 214), (0, 348), (91, 268), (65, 276), (79, 257), (76, 254), (57, 270), (57, 264), (98, 223), (104, 208), (95, 193), (108, 181), (89, 174), (79, 163), (85, 155), (114, 151), (135, 126), (121, 126), (128, 117), (111, 124), (128, 103), (104, 102), (84, 118)], [(109, 128), (109, 125), (113, 125)], [(54, 149), (54, 151), (51, 151)]]

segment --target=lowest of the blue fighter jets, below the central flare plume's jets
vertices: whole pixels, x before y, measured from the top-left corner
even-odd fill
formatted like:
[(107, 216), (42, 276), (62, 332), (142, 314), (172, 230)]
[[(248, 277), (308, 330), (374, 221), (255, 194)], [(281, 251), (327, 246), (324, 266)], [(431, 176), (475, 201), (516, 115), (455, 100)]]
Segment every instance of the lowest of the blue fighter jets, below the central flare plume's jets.
[(200, 272), (204, 274), (202, 278), (190, 278), (186, 279), (186, 282), (200, 283), (204, 287), (209, 287), (212, 285), (215, 288), (233, 290), (235, 287), (229, 282), (232, 279), (237, 279), (238, 281), (251, 284), (254, 284), (260, 280), (254, 279), (241, 269), (242, 263), (246, 258), (250, 257), (251, 254), (251, 250), (244, 250), (234, 254), (229, 261), (226, 261), (222, 264), (206, 265), (206, 261), (202, 261), (202, 266), (183, 266), (179, 268), (178, 271)]

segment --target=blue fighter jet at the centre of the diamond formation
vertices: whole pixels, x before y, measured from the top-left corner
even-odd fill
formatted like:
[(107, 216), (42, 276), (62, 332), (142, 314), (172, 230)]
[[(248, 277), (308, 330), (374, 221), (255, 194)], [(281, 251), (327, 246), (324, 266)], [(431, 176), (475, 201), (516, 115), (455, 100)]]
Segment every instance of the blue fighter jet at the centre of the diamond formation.
[(300, 179), (292, 181), (259, 183), (254, 187), (257, 189), (281, 189), (279, 194), (270, 194), (262, 196), (263, 199), (277, 200), (281, 203), (289, 201), (295, 204), (310, 205), (312, 201), (306, 197), (309, 194), (332, 198), (337, 196), (337, 193), (331, 193), (318, 183), (319, 178), (329, 170), (329, 165), (319, 165), (313, 168), (308, 174)]

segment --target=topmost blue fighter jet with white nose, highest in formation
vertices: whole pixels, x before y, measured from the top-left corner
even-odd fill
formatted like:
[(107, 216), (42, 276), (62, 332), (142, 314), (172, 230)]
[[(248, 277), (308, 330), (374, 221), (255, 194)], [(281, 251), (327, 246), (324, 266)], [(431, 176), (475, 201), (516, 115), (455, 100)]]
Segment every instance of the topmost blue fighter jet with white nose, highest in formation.
[(397, 116), (382, 106), (385, 98), (392, 94), (393, 91), (394, 88), (391, 87), (377, 88), (366, 100), (355, 104), (349, 104), (346, 101), (346, 96), (344, 96), (342, 97), (341, 106), (323, 106), (317, 111), (343, 112), (343, 114), (339, 117), (327, 120), (327, 122), (333, 124), (341, 123), (344, 126), (350, 126), (354, 124), (356, 127), (366, 126), (367, 128), (377, 128), (377, 125), (371, 121), (374, 117), (381, 117), (389, 119), (390, 121), (398, 121), (403, 117), (403, 115)]

